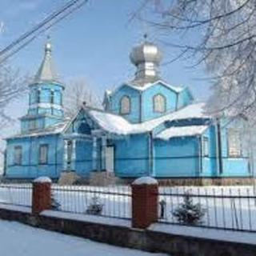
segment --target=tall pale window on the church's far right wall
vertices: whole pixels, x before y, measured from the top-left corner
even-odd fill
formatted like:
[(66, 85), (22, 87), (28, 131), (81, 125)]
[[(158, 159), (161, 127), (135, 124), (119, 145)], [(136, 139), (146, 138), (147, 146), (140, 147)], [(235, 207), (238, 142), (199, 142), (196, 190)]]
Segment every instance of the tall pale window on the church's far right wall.
[(240, 158), (242, 156), (242, 143), (239, 130), (234, 128), (227, 130), (227, 149), (230, 158)]

